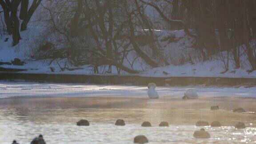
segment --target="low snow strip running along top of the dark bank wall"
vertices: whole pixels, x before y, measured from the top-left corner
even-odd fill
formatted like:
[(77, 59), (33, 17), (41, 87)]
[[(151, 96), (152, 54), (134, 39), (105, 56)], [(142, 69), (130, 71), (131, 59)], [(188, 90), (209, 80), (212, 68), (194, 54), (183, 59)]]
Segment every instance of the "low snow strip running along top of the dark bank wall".
[[(149, 77), (229, 77), (229, 78), (256, 78), (256, 71), (251, 73), (247, 72), (247, 69), (238, 68), (230, 69), (225, 73), (224, 68), (220, 65), (222, 64), (219, 60), (199, 62), (196, 64), (183, 64), (183, 65), (169, 65), (166, 67), (152, 68), (146, 72), (140, 74), (128, 74), (123, 73), (122, 76), (149, 76)], [(27, 71), (22, 71), (18, 73), (28, 73), (28, 74), (69, 74), (69, 75), (96, 75), (92, 71), (92, 67), (89, 65), (84, 65), (78, 69), (72, 71), (65, 70), (61, 71), (60, 68), (55, 67), (56, 72), (51, 72), (48, 65), (42, 64), (41, 62), (32, 62), (25, 64), (24, 66), (14, 66), (14, 65), (2, 65), (2, 68), (18, 68), (27, 69)], [(168, 74), (164, 74), (167, 72)], [(117, 72), (101, 73), (101, 76), (117, 75)]]

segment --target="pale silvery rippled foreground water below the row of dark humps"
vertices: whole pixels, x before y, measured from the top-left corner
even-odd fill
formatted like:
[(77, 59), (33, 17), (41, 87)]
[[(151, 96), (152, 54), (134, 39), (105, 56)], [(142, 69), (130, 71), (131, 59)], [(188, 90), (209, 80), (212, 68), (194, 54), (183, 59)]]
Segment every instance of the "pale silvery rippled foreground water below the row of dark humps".
[(234, 127), (204, 127), (211, 135), (210, 139), (195, 139), (193, 132), (201, 127), (192, 125), (170, 125), (170, 127), (150, 128), (139, 124), (127, 124), (123, 127), (114, 124), (91, 124), (78, 127), (75, 124), (0, 124), (0, 140), (10, 143), (14, 138), (20, 143), (29, 143), (33, 137), (43, 134), (48, 143), (109, 143), (131, 144), (137, 135), (145, 135), (154, 144), (176, 142), (251, 142), (256, 141), (256, 128), (237, 130)]

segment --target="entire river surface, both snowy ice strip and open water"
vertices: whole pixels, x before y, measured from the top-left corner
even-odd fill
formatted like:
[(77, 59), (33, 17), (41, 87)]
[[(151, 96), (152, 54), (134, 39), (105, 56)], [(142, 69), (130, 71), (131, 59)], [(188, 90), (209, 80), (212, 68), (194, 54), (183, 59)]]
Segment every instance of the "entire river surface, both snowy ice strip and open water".
[[(190, 88), (199, 99), (181, 100)], [(256, 142), (256, 100), (237, 98), (256, 97), (256, 88), (156, 87), (158, 100), (148, 99), (147, 90), (146, 85), (0, 82), (0, 144), (14, 139), (29, 144), (39, 134), (47, 144), (131, 144), (137, 135), (151, 144)], [(220, 111), (210, 110), (215, 104)], [(247, 112), (231, 112), (234, 107)], [(76, 126), (81, 119), (90, 126)], [(117, 119), (126, 125), (115, 126)], [(223, 126), (204, 127), (211, 138), (195, 139), (193, 132), (202, 128), (195, 126), (197, 120), (218, 120)], [(141, 127), (143, 121), (152, 127)], [(161, 121), (170, 127), (158, 127)], [(234, 128), (238, 121), (248, 128)]]

